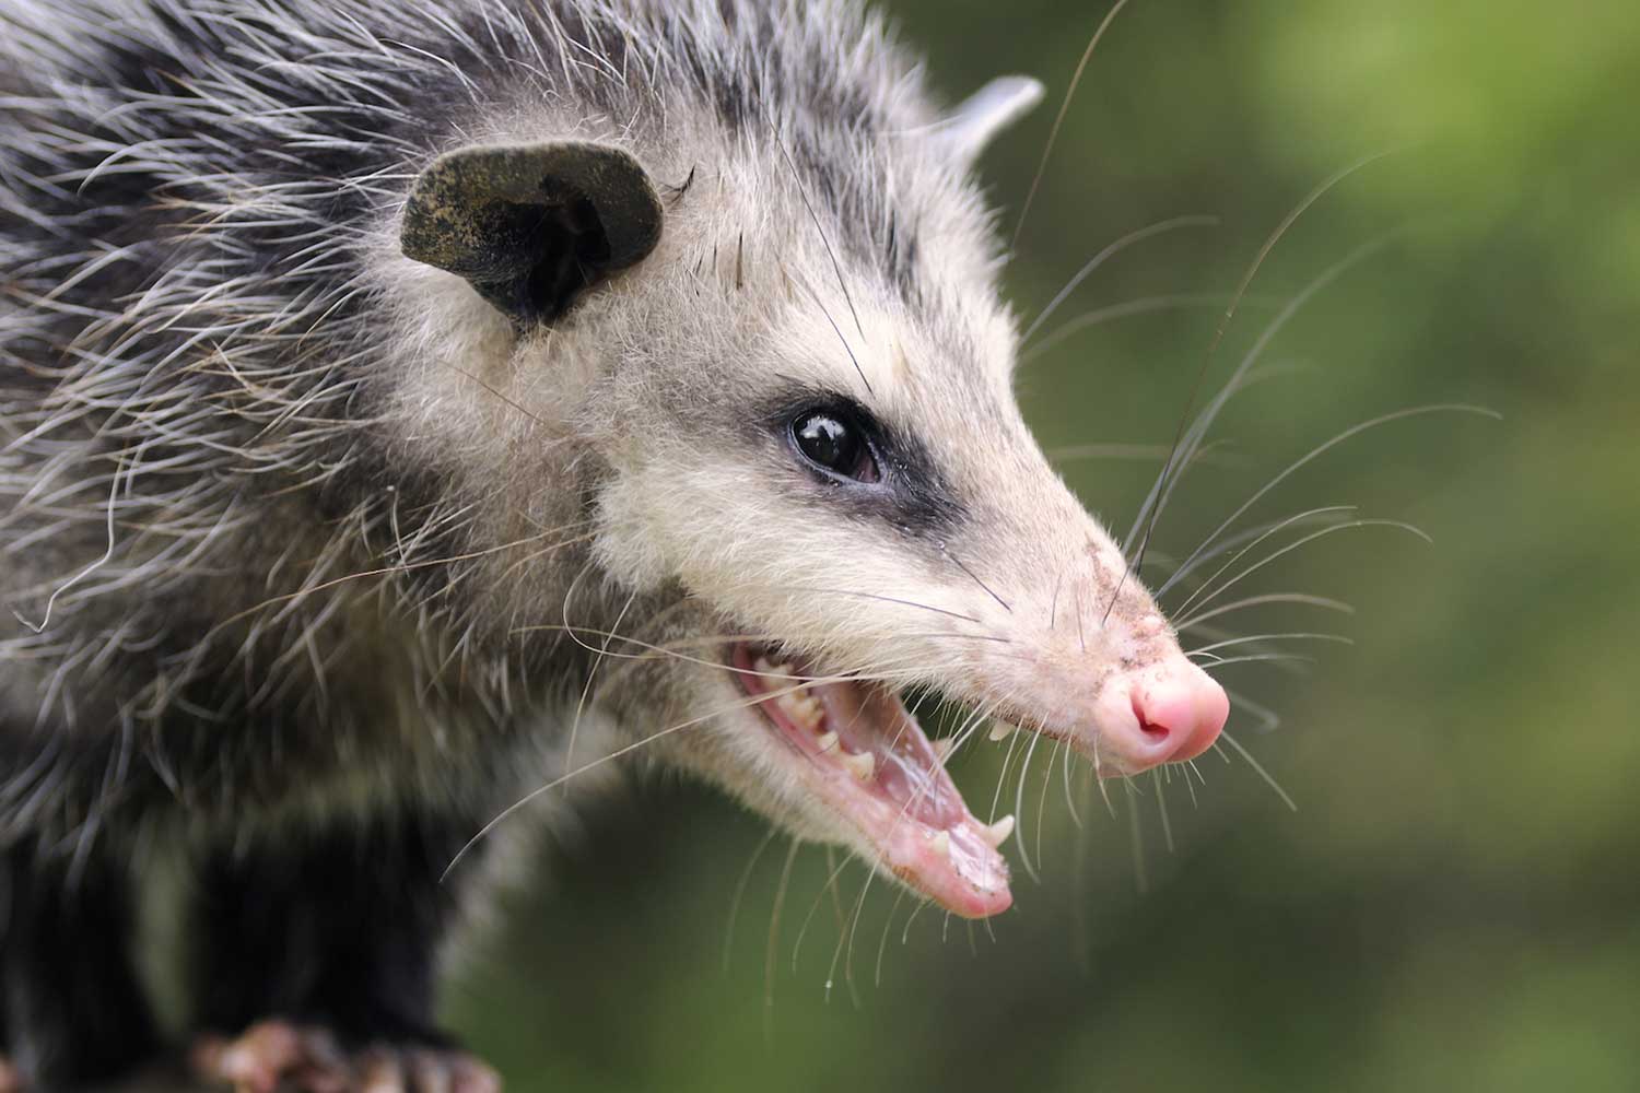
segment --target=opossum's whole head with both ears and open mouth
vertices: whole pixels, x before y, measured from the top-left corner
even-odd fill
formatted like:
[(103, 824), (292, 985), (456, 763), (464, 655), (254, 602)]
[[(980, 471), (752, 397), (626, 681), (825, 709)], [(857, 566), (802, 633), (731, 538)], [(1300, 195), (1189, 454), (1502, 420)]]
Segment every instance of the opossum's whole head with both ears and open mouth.
[(571, 618), (561, 583), (508, 565), (499, 595), (648, 657), (597, 690), (646, 752), (964, 916), (1010, 903), (1012, 819), (969, 810), (902, 692), (1100, 775), (1189, 760), (1227, 716), (1012, 393), (968, 172), (1036, 93), (999, 82), (920, 133), (866, 134), (854, 182), (774, 126), (462, 149), (418, 180), (402, 236), (446, 272), (423, 279), (421, 329), (467, 331), (423, 338), (474, 380), (430, 380), (469, 410), (425, 398), (425, 434), (485, 462), (492, 498), (584, 497), (584, 583), (625, 593)]

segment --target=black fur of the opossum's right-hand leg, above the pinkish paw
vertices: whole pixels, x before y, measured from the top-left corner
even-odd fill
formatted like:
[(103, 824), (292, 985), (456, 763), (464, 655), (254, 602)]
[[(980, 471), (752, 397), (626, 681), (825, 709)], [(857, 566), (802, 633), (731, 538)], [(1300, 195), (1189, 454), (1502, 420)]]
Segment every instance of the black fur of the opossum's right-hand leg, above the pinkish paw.
[(197, 1024), (236, 1034), (266, 1018), (351, 1044), (448, 1045), (433, 1027), (440, 941), (466, 864), (440, 883), (471, 824), (399, 814), (221, 849), (197, 905)]

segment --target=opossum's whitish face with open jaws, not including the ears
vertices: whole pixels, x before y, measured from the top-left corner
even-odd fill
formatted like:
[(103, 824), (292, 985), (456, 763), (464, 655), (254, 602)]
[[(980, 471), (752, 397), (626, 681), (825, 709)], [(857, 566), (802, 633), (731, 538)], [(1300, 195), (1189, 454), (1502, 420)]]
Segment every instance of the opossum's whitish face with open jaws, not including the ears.
[(1010, 323), (963, 300), (928, 321), (861, 292), (856, 329), (817, 288), (710, 395), (651, 362), (599, 519), (612, 574), (681, 583), (731, 636), (669, 665), (654, 728), (700, 718), (669, 751), (979, 916), (1009, 905), (1014, 821), (969, 811), (907, 687), (968, 705), (963, 739), (1018, 726), (1102, 775), (1196, 757), (1227, 700), (1033, 442)]

